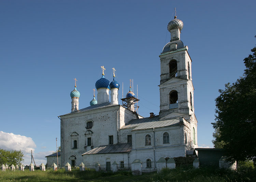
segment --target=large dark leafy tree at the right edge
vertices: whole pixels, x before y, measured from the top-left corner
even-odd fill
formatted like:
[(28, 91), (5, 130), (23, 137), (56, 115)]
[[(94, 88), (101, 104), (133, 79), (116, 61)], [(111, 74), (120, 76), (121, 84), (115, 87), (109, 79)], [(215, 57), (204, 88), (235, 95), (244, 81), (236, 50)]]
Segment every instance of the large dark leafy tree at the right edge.
[[(255, 36), (256, 37), (256, 36)], [(213, 127), (217, 148), (227, 150), (229, 160), (256, 161), (256, 47), (244, 59), (244, 74), (219, 90)]]

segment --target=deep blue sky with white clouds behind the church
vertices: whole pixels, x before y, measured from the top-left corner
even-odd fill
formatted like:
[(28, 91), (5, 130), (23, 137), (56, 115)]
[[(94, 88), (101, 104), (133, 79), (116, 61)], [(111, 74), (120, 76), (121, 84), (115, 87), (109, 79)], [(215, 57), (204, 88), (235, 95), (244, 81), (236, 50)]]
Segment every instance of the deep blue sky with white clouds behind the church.
[[(70, 92), (89, 106), (95, 82), (112, 80), (119, 98), (133, 79), (141, 116), (159, 113), (160, 60), (167, 25), (184, 23), (181, 40), (192, 59), (198, 146), (213, 148), (211, 125), (218, 90), (243, 75), (255, 46), (256, 1), (0, 1), (0, 148), (22, 150), (24, 164), (46, 164), (60, 146), (60, 120), (71, 112)], [(97, 95), (97, 94), (96, 94)], [(119, 103), (121, 101), (119, 100)]]

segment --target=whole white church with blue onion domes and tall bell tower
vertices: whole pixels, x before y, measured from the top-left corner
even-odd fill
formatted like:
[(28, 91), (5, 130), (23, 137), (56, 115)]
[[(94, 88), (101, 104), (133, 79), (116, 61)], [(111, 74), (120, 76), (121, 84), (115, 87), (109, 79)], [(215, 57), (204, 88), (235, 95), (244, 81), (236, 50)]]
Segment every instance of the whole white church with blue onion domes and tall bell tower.
[(80, 92), (75, 86), (70, 93), (71, 113), (59, 116), (61, 166), (67, 162), (122, 166), (139, 159), (155, 168), (160, 157), (186, 156), (198, 147), (192, 61), (180, 40), (182, 28), (183, 22), (175, 16), (168, 24), (171, 41), (159, 56), (159, 115), (138, 115), (138, 99), (131, 89), (120, 103), (115, 74), (113, 81), (105, 79), (103, 66), (102, 78), (95, 84), (97, 100), (94, 96), (89, 107), (79, 109)]

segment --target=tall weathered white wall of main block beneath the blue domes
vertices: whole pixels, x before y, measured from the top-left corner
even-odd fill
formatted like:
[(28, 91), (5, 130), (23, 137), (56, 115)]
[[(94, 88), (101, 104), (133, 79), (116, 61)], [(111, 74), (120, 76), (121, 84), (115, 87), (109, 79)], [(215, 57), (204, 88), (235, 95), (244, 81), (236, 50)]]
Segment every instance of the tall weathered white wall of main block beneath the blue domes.
[[(64, 123), (62, 124), (63, 136), (61, 137), (63, 140), (61, 142), (61, 151), (63, 151), (61, 153), (61, 155), (63, 154), (62, 165), (65, 165), (67, 162), (71, 164), (70, 156), (75, 156), (75, 165), (79, 165), (83, 161), (81, 155), (91, 150), (91, 146), (85, 147), (88, 137), (91, 138), (93, 148), (108, 145), (110, 135), (113, 135), (114, 143), (117, 143), (118, 109), (119, 105), (62, 116), (62, 123)], [(89, 120), (93, 121), (93, 127), (89, 129), (93, 134), (85, 135), (87, 131), (85, 126)], [(70, 136), (73, 132), (76, 132), (78, 135)], [(72, 149), (74, 140), (77, 140), (77, 149)]]

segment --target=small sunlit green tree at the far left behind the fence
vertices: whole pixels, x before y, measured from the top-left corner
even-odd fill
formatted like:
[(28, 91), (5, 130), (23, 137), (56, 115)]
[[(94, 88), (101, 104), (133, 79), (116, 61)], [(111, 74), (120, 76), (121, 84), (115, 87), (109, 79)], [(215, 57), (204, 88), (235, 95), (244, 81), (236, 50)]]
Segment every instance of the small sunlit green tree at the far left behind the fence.
[(20, 165), (24, 161), (24, 154), (21, 150), (3, 150), (0, 149), (0, 164), (7, 164), (9, 166)]

